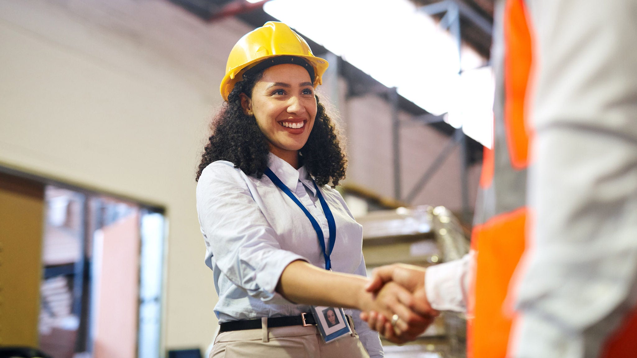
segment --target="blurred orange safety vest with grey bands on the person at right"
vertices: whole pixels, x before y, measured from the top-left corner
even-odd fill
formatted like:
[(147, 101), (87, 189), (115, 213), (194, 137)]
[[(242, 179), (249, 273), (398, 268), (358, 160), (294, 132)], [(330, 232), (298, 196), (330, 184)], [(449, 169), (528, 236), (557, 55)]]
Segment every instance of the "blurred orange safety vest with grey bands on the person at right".
[[(524, 0), (505, 0), (494, 34), (493, 149), (484, 149), (471, 248), (476, 265), (470, 287), (467, 354), (504, 358), (514, 312), (505, 298), (524, 252), (527, 166), (533, 132), (525, 122), (527, 84), (532, 72), (533, 36)], [(497, 20), (496, 20), (497, 22)], [(637, 357), (637, 314), (605, 346), (602, 357)]]

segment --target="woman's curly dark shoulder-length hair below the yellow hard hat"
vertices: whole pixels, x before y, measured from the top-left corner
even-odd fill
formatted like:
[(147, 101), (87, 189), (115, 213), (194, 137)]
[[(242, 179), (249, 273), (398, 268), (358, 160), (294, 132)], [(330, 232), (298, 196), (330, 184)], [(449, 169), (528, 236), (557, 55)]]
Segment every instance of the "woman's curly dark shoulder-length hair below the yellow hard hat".
[[(261, 178), (268, 168), (268, 139), (259, 129), (254, 117), (244, 113), (240, 94), (252, 96), (255, 83), (263, 72), (243, 76), (234, 85), (224, 107), (211, 123), (212, 135), (204, 147), (196, 180), (208, 164), (214, 161), (229, 161), (247, 175)], [(323, 104), (317, 99), (317, 115), (308, 141), (299, 150), (301, 161), (317, 185), (330, 184), (336, 187), (345, 178), (347, 159), (341, 148), (334, 123)]]

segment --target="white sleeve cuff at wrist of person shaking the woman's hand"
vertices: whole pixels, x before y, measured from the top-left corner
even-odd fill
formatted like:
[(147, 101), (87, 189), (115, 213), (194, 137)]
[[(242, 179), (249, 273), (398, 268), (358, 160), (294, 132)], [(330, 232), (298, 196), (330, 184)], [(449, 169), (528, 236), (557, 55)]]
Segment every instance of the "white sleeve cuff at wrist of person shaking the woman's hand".
[(425, 271), (425, 291), (431, 308), (439, 311), (467, 310), (469, 279), (473, 269), (473, 251), (461, 259), (430, 266)]

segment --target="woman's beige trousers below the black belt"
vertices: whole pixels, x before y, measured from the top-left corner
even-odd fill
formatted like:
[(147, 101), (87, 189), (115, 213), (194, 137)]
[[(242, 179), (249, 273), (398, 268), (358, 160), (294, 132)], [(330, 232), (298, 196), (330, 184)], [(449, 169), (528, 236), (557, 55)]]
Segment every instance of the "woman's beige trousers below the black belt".
[(325, 343), (316, 326), (246, 329), (217, 335), (209, 358), (369, 358), (358, 334)]

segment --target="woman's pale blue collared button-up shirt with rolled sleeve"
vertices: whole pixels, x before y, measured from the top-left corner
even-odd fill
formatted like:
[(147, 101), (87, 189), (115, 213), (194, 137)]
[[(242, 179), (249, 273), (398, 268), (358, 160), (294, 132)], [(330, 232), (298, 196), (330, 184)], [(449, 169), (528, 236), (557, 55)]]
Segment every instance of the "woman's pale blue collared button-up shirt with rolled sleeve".
[[(329, 247), (327, 220), (313, 182), (304, 167), (294, 169), (269, 154), (268, 166), (310, 211)], [(366, 276), (362, 257), (362, 226), (341, 197), (325, 185), (320, 188), (336, 222), (336, 243), (331, 254), (333, 271)], [(206, 242), (205, 262), (213, 270), (219, 301), (219, 322), (300, 315), (309, 306), (287, 301), (275, 291), (283, 269), (303, 260), (325, 268), (322, 248), (310, 220), (290, 197), (271, 182), (216, 161), (201, 173), (197, 183), (197, 213)], [(356, 331), (371, 357), (383, 357), (378, 333), (354, 317)]]

